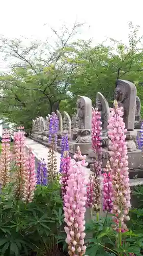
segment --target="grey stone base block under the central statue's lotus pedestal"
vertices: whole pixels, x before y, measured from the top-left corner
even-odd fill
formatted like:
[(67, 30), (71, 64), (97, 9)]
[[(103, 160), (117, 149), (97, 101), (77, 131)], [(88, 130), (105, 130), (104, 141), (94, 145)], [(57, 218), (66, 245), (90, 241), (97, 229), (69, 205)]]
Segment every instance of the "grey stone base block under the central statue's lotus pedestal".
[(69, 143), (69, 147), (70, 147), (70, 153), (74, 154), (77, 146), (80, 147), (80, 151), (82, 155), (87, 155), (88, 151), (91, 148), (91, 143), (76, 143), (74, 141)]

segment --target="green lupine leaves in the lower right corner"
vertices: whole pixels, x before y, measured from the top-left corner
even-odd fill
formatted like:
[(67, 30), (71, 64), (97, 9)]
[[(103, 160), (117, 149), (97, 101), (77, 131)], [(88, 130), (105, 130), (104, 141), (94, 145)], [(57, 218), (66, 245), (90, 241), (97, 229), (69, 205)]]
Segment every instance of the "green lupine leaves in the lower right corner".
[(129, 255), (129, 253), (135, 253), (136, 255), (142, 255), (140, 253), (143, 248), (143, 234), (141, 232), (134, 233), (133, 231), (127, 231), (122, 233), (122, 246), (118, 243), (118, 232), (111, 228), (111, 217), (102, 218), (98, 222), (92, 221), (87, 224), (86, 233), (92, 238), (87, 238), (86, 253), (90, 256), (99, 255)]

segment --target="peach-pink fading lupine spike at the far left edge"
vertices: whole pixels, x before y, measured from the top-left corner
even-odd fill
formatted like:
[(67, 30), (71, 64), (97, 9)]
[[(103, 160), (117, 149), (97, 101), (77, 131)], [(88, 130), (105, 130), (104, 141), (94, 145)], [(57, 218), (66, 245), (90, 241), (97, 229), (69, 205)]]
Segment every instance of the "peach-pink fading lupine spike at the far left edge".
[(1, 187), (4, 188), (10, 182), (10, 134), (4, 130), (2, 137), (2, 153), (0, 159), (0, 181)]

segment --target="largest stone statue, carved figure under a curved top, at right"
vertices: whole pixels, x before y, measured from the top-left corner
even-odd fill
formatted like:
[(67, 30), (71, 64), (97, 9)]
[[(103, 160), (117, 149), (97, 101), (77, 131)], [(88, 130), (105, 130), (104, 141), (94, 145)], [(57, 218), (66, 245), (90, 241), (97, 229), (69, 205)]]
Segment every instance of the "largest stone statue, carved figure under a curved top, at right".
[(114, 98), (117, 100), (119, 107), (123, 107), (123, 119), (126, 129), (128, 131), (133, 131), (136, 106), (135, 85), (130, 81), (117, 80)]

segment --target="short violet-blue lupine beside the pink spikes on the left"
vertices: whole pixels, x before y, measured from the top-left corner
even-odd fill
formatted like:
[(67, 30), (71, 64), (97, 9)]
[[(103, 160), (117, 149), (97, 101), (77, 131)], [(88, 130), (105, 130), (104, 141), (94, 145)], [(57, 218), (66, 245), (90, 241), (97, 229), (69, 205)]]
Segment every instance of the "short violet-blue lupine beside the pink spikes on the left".
[(37, 168), (37, 185), (46, 186), (47, 185), (47, 166), (44, 161), (44, 158), (41, 158), (41, 161), (38, 162), (38, 168)]

